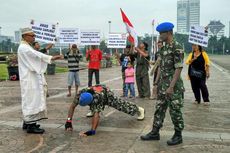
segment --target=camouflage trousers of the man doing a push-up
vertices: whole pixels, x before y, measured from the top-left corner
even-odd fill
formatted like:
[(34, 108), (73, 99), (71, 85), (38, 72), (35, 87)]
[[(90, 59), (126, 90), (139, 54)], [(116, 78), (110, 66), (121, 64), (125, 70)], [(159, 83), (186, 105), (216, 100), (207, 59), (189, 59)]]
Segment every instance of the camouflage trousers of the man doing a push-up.
[(139, 109), (136, 104), (120, 99), (114, 95), (110, 95), (108, 97), (107, 105), (131, 116), (139, 113)]

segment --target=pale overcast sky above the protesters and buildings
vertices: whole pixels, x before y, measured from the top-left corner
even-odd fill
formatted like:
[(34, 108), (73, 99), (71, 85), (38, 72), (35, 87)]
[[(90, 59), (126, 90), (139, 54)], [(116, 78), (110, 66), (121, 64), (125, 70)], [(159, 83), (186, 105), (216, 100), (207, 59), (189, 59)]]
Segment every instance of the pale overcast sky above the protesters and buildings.
[[(152, 33), (151, 22), (173, 22), (176, 26), (177, 0), (0, 0), (2, 35), (14, 36), (14, 31), (29, 26), (31, 19), (59, 23), (60, 27), (100, 29), (125, 32), (120, 8), (131, 20), (139, 35)], [(225, 24), (229, 33), (230, 0), (200, 0), (201, 25), (210, 20)]]

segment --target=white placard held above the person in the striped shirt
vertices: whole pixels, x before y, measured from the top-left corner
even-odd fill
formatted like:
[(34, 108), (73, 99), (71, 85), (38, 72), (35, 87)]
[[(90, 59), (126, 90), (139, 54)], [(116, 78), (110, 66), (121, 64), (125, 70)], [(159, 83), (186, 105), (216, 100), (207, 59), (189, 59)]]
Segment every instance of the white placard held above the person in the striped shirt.
[(78, 28), (60, 28), (58, 36), (59, 36), (59, 43), (62, 44), (79, 43)]

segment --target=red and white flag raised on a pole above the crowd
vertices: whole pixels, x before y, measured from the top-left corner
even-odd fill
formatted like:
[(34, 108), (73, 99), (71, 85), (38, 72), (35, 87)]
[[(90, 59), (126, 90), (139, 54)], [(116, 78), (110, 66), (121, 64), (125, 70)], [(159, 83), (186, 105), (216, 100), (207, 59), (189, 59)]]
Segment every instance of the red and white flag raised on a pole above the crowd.
[(128, 17), (125, 15), (125, 13), (121, 9), (121, 16), (122, 20), (126, 26), (127, 33), (129, 34), (128, 40), (130, 43), (134, 44), (135, 47), (138, 45), (138, 39), (137, 39), (137, 33), (132, 25), (132, 23), (129, 21)]

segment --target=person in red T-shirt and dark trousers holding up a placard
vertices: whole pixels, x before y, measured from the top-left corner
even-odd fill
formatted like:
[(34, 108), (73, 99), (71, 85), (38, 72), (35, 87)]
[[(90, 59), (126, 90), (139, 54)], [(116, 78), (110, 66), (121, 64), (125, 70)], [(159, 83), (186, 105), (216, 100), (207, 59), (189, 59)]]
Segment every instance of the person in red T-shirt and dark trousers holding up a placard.
[(102, 60), (102, 51), (92, 45), (92, 50), (87, 51), (86, 60), (89, 61), (88, 65), (88, 87), (92, 86), (93, 73), (95, 74), (96, 84), (100, 84), (100, 64)]

